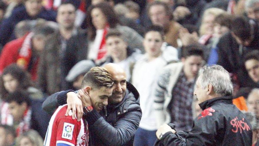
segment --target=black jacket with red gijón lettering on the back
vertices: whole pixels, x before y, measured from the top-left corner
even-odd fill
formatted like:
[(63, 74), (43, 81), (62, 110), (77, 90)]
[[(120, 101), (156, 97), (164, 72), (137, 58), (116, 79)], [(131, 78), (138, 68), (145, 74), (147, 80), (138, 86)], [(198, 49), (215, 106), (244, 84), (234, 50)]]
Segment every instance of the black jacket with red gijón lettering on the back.
[[(251, 124), (232, 104), (232, 97), (218, 97), (199, 104), (202, 113), (190, 132), (167, 132), (156, 145), (170, 146), (251, 146)], [(242, 127), (240, 127), (240, 124)]]

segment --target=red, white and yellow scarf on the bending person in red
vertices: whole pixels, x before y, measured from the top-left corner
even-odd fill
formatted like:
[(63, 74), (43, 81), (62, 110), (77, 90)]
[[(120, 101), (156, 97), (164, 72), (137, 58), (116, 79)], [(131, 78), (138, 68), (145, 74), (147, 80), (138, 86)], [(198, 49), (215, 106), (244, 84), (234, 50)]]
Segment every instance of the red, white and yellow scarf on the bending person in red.
[[(20, 49), (18, 58), (17, 58), (17, 65), (21, 68), (28, 69), (29, 63), (31, 60), (31, 38), (34, 34), (31, 32), (29, 33), (22, 44), (22, 47)], [(33, 81), (37, 78), (37, 65), (38, 65), (39, 58), (35, 61), (34, 65), (32, 66), (32, 69), (30, 70), (31, 73), (31, 79)]]

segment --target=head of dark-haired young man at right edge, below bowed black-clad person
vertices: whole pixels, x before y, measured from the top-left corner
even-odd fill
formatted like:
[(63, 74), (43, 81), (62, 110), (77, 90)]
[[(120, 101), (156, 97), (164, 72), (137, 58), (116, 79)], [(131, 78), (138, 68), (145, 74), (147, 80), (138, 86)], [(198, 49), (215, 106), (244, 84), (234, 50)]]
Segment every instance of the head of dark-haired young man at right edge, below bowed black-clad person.
[(249, 77), (255, 83), (255, 86), (259, 88), (259, 50), (254, 50), (245, 55), (245, 69)]

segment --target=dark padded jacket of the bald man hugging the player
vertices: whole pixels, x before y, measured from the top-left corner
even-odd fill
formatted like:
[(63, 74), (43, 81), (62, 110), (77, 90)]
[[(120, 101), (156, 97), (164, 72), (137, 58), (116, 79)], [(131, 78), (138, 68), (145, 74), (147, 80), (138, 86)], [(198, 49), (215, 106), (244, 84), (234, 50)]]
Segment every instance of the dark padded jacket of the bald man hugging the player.
[[(53, 113), (57, 106), (66, 104), (68, 92), (61, 91), (49, 96), (42, 105), (43, 109)], [(139, 93), (127, 82), (124, 99), (117, 105), (108, 105), (107, 116), (104, 111), (98, 113), (96, 110), (87, 114), (85, 119), (89, 126), (89, 145), (132, 146), (141, 116)]]

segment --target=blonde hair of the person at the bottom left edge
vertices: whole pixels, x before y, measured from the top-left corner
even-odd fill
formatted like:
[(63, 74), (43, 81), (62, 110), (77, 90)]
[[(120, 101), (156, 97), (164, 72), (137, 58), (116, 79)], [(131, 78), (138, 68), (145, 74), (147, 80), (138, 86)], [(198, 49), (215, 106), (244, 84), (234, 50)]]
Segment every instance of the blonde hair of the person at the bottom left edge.
[(29, 130), (27, 132), (22, 133), (19, 137), (16, 138), (16, 146), (20, 146), (21, 139), (27, 137), (33, 146), (43, 145), (43, 139), (39, 135), (39, 133), (35, 130)]

